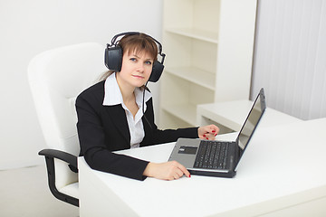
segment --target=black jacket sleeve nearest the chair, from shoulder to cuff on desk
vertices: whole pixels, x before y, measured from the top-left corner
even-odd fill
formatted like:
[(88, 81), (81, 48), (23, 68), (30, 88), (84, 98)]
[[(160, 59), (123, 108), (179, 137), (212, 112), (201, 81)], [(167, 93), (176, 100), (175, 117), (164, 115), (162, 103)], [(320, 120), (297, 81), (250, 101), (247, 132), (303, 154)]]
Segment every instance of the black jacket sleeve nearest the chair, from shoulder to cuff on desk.
[(89, 93), (82, 93), (76, 99), (81, 156), (84, 156), (92, 169), (144, 180), (146, 176), (143, 172), (149, 162), (111, 152), (108, 143), (114, 139), (110, 140), (105, 135), (101, 119), (101, 101), (101, 95), (99, 98), (97, 94)]

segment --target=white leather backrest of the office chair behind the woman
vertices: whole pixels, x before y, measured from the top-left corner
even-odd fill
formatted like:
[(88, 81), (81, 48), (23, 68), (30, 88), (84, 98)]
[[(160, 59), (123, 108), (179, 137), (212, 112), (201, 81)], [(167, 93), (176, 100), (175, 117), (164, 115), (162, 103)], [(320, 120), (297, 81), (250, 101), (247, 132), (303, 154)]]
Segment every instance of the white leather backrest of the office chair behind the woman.
[[(75, 99), (107, 71), (104, 50), (99, 43), (81, 43), (42, 52), (30, 62), (28, 79), (48, 148), (79, 155)], [(65, 179), (57, 176), (58, 189)]]

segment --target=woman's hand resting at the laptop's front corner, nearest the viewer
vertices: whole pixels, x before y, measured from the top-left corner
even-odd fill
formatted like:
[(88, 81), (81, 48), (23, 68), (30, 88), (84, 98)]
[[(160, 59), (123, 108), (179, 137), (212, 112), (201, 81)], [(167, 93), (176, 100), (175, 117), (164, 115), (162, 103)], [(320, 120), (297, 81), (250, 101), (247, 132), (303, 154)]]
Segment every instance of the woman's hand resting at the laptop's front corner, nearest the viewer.
[(145, 168), (143, 175), (163, 180), (174, 180), (182, 175), (190, 177), (186, 167), (177, 163), (177, 161), (168, 161), (166, 163), (149, 163)]

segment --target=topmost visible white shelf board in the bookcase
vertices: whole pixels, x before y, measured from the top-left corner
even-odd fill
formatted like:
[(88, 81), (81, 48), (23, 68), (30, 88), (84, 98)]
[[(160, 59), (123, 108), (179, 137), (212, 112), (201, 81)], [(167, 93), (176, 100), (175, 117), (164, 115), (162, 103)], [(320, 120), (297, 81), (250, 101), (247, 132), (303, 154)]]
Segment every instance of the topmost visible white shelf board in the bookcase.
[(166, 29), (168, 33), (175, 33), (183, 36), (187, 36), (190, 38), (195, 38), (198, 40), (202, 40), (205, 42), (212, 42), (218, 43), (218, 33), (204, 31), (204, 30), (197, 30), (197, 29), (190, 29), (190, 28), (168, 28)]

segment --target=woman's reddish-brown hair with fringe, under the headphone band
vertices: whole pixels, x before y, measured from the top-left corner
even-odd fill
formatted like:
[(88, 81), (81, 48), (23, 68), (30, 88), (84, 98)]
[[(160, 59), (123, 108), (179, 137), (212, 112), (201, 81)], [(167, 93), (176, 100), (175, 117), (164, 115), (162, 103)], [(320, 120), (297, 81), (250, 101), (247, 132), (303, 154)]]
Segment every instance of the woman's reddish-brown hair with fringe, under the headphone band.
[[(154, 61), (158, 60), (158, 45), (145, 33), (126, 34), (120, 39), (118, 45), (122, 49), (122, 56), (125, 52), (147, 52)], [(104, 72), (99, 80), (106, 80), (113, 72), (115, 71)]]

